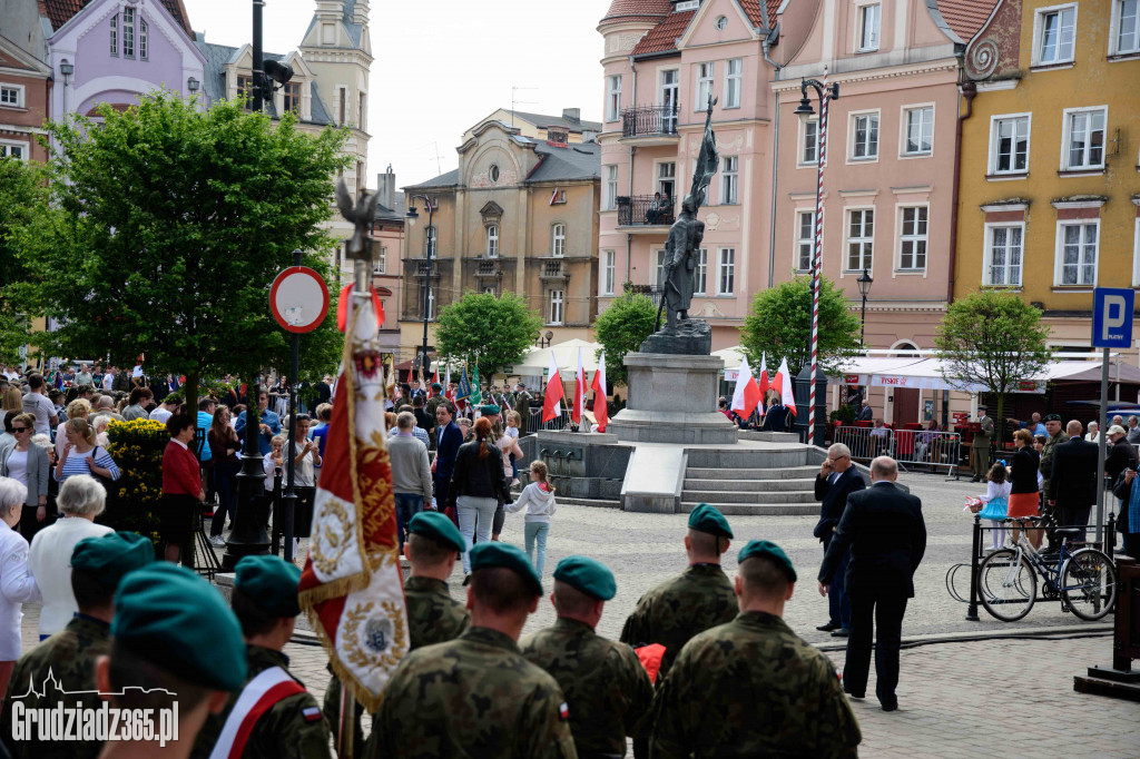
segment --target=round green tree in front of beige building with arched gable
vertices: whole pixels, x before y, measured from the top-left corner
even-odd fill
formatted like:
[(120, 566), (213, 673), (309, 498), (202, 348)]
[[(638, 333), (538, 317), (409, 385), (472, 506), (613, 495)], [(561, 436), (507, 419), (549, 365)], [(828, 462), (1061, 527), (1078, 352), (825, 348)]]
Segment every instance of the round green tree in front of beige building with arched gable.
[(522, 360), (543, 326), (537, 311), (514, 293), (469, 291), (445, 305), (435, 320), (435, 356), (466, 359), (483, 377)]

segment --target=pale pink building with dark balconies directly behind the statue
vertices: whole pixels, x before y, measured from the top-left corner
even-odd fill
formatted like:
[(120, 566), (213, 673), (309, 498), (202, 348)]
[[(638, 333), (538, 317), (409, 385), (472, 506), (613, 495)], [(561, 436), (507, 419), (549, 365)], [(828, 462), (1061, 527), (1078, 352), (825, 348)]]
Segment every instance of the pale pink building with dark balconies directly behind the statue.
[(605, 39), (598, 309), (624, 285), (658, 296), (665, 240), (692, 182), (708, 96), (720, 168), (698, 218), (703, 250), (690, 315), (714, 350), (740, 342), (767, 286), (772, 219), (773, 39), (779, 0), (614, 0)]

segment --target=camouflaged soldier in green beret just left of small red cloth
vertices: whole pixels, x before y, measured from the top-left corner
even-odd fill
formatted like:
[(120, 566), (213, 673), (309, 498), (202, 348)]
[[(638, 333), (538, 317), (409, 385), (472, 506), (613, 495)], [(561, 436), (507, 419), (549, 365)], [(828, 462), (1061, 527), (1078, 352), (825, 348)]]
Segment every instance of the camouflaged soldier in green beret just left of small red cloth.
[(633, 648), (594, 632), (617, 590), (601, 562), (567, 556), (554, 570), (557, 622), (520, 644), (522, 655), (562, 687), (579, 759), (626, 756), (626, 736), (637, 734), (653, 700), (653, 684)]

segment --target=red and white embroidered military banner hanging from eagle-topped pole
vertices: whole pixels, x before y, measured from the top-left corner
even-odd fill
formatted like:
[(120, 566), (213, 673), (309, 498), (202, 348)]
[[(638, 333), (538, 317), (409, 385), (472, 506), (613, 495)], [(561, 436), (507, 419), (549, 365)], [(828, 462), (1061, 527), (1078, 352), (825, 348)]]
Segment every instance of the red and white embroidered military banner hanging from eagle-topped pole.
[(408, 652), (384, 431), (384, 375), (370, 297), (351, 313), (299, 601), (333, 671), (369, 712)]

